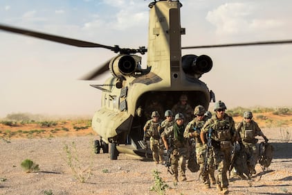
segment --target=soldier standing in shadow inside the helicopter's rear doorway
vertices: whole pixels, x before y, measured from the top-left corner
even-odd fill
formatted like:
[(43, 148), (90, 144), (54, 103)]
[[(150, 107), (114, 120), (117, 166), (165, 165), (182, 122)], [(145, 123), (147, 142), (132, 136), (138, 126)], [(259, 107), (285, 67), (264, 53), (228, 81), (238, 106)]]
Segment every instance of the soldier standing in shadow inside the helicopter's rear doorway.
[(188, 104), (188, 96), (182, 94), (179, 98), (179, 102), (172, 107), (172, 113), (174, 115), (181, 113), (185, 117), (185, 124), (188, 124), (192, 120), (192, 106)]

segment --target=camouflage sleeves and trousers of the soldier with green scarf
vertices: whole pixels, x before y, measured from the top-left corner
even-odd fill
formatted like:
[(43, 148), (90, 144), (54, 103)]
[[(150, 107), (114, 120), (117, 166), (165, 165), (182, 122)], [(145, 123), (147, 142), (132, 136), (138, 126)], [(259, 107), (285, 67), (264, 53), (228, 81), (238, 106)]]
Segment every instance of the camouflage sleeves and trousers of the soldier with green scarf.
[[(176, 123), (174, 123), (174, 126)], [(185, 178), (185, 163), (187, 159), (188, 151), (188, 142), (187, 139), (184, 139), (183, 142), (180, 142), (177, 139), (174, 139), (174, 126), (165, 128), (161, 137), (172, 137), (174, 144), (174, 151), (171, 155), (172, 162), (172, 172), (174, 173), (174, 179), (177, 179), (180, 175), (182, 178)], [(184, 126), (182, 127), (184, 128)]]

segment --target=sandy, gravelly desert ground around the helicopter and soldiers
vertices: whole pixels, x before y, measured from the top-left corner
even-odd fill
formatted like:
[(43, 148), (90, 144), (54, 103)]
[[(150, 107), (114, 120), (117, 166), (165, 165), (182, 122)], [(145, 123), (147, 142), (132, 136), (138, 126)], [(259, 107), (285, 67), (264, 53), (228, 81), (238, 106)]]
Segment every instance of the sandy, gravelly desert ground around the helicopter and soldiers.
[[(275, 148), (271, 166), (262, 171), (257, 164), (257, 174), (252, 180), (230, 176), (229, 194), (292, 194), (292, 137), (289, 136), (292, 134), (292, 117), (267, 115), (268, 123), (255, 121)], [(235, 117), (236, 122), (241, 119)], [(281, 125), (275, 127), (274, 123)], [(160, 172), (163, 183), (169, 186), (165, 194), (218, 194), (214, 185), (211, 189), (203, 189), (198, 172), (188, 170), (188, 180), (174, 185), (167, 168), (163, 164), (154, 164), (151, 159), (140, 160), (120, 154), (118, 160), (110, 160), (109, 153), (93, 154), (92, 142), (98, 135), (90, 127), (79, 129), (74, 126), (84, 127), (86, 122), (63, 121), (51, 129), (32, 134), (24, 133), (24, 130), (39, 127), (1, 124), (0, 194), (158, 194), (150, 191), (155, 186), (154, 170)], [(67, 164), (68, 153), (64, 150), (65, 146), (73, 149), (73, 143), (76, 150), (71, 151), (71, 155), (78, 155), (75, 158), (78, 162), (73, 164), (77, 173), (73, 173), (72, 166)], [(20, 164), (26, 159), (39, 164), (39, 171), (26, 173), (21, 169)], [(86, 177), (89, 171), (91, 176), (84, 183), (75, 178), (76, 175)]]

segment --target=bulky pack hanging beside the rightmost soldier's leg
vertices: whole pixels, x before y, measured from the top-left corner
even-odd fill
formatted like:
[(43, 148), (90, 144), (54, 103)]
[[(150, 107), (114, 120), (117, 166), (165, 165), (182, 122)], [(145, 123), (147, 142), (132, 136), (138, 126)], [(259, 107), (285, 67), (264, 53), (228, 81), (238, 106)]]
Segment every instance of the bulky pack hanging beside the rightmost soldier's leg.
[(273, 160), (274, 147), (272, 144), (261, 142), (259, 144), (259, 164), (263, 170), (270, 166)]

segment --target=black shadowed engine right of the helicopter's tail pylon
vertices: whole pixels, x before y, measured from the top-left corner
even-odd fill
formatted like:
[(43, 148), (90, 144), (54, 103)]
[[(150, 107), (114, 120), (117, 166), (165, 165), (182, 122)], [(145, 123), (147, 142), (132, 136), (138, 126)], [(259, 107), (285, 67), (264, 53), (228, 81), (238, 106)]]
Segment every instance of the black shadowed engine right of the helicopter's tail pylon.
[(181, 58), (182, 67), (185, 74), (200, 78), (202, 74), (212, 69), (212, 59), (209, 56), (196, 56), (193, 54), (185, 55)]

